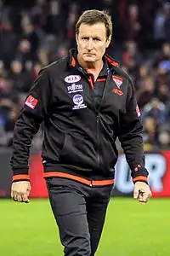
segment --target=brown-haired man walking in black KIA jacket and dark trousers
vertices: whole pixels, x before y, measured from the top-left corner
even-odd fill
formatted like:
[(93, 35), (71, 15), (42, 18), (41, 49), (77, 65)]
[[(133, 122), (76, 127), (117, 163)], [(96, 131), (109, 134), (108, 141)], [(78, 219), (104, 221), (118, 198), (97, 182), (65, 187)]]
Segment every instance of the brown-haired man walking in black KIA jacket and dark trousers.
[(111, 34), (109, 15), (85, 11), (77, 21), (77, 50), (42, 69), (15, 126), (11, 196), (28, 201), (29, 148), (44, 121), (44, 177), (65, 256), (97, 250), (114, 183), (116, 137), (132, 171), (134, 198), (151, 196), (133, 84), (105, 55)]

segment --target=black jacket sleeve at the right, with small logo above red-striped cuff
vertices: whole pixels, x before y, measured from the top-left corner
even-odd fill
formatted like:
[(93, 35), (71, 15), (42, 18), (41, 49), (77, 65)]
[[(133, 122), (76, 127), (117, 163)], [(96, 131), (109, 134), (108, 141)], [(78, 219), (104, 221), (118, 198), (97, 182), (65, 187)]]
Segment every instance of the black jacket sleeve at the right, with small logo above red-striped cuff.
[(133, 84), (128, 82), (127, 104), (121, 116), (119, 140), (131, 169), (133, 183), (142, 181), (148, 183), (148, 172), (144, 168), (144, 145), (142, 137), (139, 107), (134, 95)]

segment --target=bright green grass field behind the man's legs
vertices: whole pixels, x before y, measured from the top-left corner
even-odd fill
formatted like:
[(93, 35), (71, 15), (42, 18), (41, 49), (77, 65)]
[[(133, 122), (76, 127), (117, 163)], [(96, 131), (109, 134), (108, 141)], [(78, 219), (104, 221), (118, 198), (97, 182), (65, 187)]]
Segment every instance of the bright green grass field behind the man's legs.
[[(47, 200), (0, 200), (1, 256), (63, 256)], [(96, 256), (170, 256), (170, 200), (111, 200)]]

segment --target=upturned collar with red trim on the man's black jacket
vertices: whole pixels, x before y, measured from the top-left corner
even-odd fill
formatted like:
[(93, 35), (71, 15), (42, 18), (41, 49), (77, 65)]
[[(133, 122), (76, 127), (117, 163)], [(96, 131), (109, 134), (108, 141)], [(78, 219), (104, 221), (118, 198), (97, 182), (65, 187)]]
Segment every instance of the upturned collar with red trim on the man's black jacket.
[[(105, 58), (105, 61), (107, 61), (108, 66), (110, 68), (119, 66), (119, 62), (112, 59), (110, 55), (105, 54), (104, 58)], [(69, 61), (69, 65), (71, 67), (77, 67), (77, 49), (69, 50), (69, 60), (68, 61)]]

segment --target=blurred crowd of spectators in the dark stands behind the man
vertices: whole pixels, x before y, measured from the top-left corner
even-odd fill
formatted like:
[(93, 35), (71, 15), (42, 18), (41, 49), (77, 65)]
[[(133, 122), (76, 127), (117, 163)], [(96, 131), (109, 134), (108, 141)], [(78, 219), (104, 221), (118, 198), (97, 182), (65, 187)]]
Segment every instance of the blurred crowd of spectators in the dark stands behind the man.
[[(85, 9), (113, 21), (108, 54), (133, 78), (145, 149), (170, 145), (170, 3), (163, 0), (0, 0), (0, 146), (10, 147), (14, 123), (39, 70), (74, 48)], [(42, 143), (42, 130), (34, 147)]]

